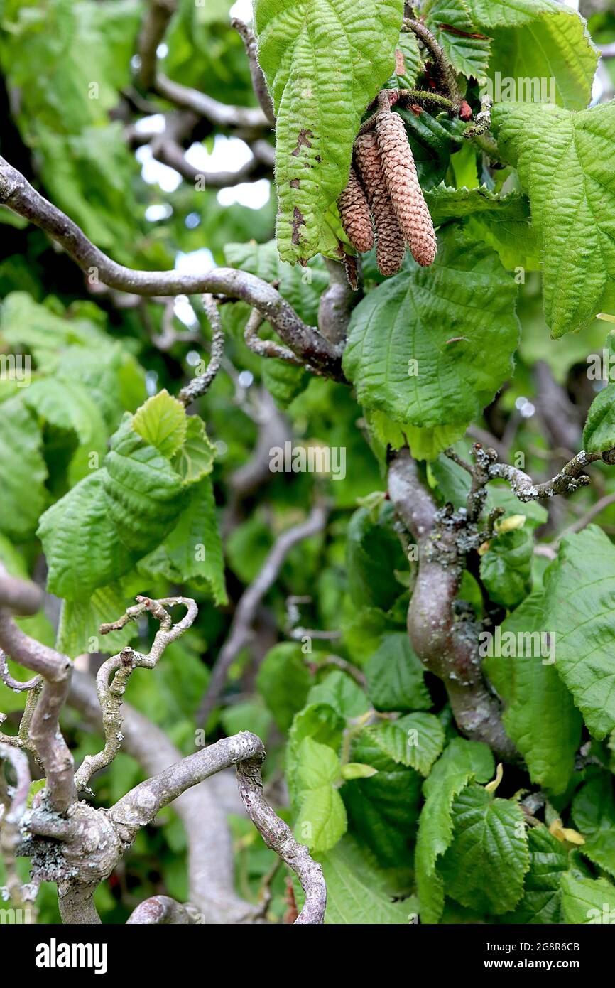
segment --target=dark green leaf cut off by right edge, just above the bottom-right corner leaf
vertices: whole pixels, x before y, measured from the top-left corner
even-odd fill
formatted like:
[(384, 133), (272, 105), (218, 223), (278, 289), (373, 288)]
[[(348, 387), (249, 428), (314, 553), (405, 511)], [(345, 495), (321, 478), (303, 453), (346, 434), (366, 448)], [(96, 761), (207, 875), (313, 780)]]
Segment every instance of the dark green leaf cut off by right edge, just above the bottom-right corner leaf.
[(615, 877), (615, 800), (609, 775), (602, 773), (578, 789), (573, 819), (585, 838), (580, 853)]

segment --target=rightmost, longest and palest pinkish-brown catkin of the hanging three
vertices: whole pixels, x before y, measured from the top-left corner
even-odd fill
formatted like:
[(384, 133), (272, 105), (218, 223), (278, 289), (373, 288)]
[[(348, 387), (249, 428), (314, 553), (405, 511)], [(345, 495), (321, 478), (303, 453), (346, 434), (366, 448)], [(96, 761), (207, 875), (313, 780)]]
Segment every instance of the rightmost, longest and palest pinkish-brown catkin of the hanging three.
[(406, 127), (399, 114), (382, 113), (376, 122), (382, 170), (402, 232), (418, 264), (427, 268), (437, 253), (433, 222), (424, 201)]

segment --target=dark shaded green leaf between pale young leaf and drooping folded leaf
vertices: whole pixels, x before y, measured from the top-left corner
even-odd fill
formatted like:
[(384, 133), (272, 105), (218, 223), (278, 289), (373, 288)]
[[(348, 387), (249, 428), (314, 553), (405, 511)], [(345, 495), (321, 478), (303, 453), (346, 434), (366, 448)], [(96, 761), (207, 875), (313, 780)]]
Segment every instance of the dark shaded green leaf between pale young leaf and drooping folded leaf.
[(421, 777), (389, 758), (368, 730), (362, 730), (354, 740), (352, 758), (371, 766), (377, 774), (346, 782), (342, 789), (350, 832), (369, 848), (379, 864), (411, 867)]

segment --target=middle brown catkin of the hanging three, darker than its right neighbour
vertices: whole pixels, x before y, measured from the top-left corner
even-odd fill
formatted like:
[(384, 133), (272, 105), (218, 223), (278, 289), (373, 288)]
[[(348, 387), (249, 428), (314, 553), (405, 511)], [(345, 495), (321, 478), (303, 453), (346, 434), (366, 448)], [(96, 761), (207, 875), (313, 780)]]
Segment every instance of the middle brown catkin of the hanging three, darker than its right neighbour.
[(381, 275), (396, 275), (402, 267), (406, 244), (391, 203), (375, 133), (358, 136), (354, 142), (356, 164), (376, 228), (376, 264)]

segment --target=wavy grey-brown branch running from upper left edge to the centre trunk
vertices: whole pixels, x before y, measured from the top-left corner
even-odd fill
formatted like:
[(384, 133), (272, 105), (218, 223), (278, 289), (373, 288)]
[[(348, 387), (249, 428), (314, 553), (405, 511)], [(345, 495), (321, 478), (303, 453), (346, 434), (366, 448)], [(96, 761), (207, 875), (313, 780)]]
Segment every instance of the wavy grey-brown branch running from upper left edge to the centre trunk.
[(103, 283), (137, 295), (210, 292), (241, 299), (258, 309), (303, 361), (328, 376), (345, 379), (340, 348), (334, 347), (316, 328), (306, 325), (275, 288), (255, 275), (234, 268), (215, 268), (203, 275), (125, 268), (99, 250), (72, 219), (40, 196), (4, 158), (0, 158), (0, 204), (29, 219), (61, 244), (93, 284)]

